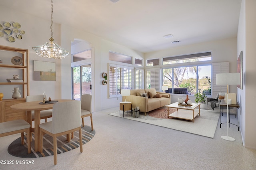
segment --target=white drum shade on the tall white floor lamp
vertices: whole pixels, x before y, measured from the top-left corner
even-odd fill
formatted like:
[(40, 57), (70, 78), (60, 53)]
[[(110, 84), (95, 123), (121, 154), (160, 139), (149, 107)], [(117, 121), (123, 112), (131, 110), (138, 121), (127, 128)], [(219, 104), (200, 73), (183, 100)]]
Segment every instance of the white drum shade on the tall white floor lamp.
[(240, 84), (240, 73), (216, 74), (216, 85), (238, 85)]

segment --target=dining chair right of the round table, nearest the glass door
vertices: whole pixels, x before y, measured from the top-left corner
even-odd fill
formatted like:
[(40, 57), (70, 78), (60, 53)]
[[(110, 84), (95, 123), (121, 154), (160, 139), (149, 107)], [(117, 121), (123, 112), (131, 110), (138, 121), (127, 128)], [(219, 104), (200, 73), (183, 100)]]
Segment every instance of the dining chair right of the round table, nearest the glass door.
[(81, 118), (84, 127), (84, 117), (91, 117), (91, 126), (93, 130), (93, 123), (92, 123), (92, 95), (84, 94), (81, 97)]

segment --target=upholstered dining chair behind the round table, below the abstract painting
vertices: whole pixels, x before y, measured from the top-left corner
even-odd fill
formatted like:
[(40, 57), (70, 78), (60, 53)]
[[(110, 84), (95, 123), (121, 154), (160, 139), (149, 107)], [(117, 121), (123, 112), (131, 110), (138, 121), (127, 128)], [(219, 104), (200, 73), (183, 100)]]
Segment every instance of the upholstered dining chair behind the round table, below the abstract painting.
[[(30, 101), (40, 101), (42, 102), (43, 99), (47, 99), (46, 95), (30, 95), (30, 96), (26, 96), (26, 102), (30, 102)], [(31, 112), (32, 115), (32, 121), (34, 121), (34, 111)], [(52, 109), (49, 110), (44, 110), (44, 111), (40, 111), (40, 119), (45, 119), (45, 122), (47, 122), (47, 118), (52, 117)]]

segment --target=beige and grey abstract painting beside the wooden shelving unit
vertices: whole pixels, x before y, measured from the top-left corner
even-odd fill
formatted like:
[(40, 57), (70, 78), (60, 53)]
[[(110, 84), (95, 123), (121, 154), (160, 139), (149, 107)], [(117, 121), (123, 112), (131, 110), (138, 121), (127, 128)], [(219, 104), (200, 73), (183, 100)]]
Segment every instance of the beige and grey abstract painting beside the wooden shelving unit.
[(56, 81), (56, 63), (34, 60), (34, 80)]

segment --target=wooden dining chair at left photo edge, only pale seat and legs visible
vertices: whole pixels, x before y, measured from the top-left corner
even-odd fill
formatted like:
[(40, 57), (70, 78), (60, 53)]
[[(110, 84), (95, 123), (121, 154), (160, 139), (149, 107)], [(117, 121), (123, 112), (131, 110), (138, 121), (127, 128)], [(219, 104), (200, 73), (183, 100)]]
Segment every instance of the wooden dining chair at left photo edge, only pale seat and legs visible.
[(23, 119), (0, 123), (0, 137), (21, 133), (21, 144), (24, 145), (24, 132), (27, 134), (28, 154), (31, 153), (30, 146), (30, 124)]

